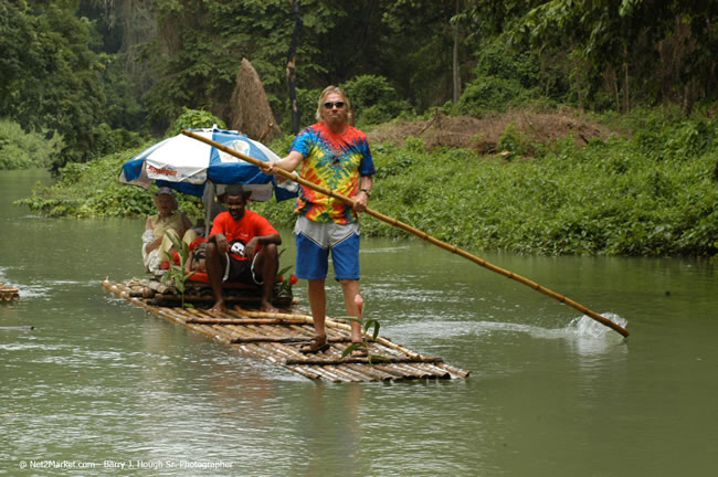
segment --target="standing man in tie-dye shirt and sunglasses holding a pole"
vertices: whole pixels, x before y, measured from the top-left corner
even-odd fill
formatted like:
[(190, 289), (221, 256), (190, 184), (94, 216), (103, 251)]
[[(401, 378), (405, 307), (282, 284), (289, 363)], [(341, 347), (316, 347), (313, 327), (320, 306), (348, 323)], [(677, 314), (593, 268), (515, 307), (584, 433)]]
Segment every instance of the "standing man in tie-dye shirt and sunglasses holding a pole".
[[(275, 168), (294, 171), (302, 165), (300, 177), (345, 197), (349, 204), (302, 186), (295, 212), (294, 230), (297, 262), (295, 275), (308, 280), (309, 307), (316, 336), (302, 348), (304, 353), (329, 349), (325, 329), (327, 297), (325, 279), (331, 252), (335, 277), (341, 284), (349, 316), (360, 316), (355, 297), (359, 295), (359, 222), (357, 212), (367, 209), (373, 183), (374, 165), (367, 136), (348, 124), (351, 105), (339, 87), (321, 92), (316, 118), (294, 139), (288, 156), (267, 162), (264, 171)], [(351, 321), (351, 341), (361, 342), (361, 326)], [(352, 356), (366, 356), (363, 347)]]

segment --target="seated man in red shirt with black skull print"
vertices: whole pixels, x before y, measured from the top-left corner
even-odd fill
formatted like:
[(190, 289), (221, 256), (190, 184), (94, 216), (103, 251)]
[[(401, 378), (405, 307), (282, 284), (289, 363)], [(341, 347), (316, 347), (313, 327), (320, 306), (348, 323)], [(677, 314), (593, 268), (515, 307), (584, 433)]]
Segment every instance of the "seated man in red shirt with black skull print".
[(218, 214), (212, 224), (204, 261), (215, 299), (213, 311), (226, 308), (223, 282), (261, 286), (262, 310), (276, 311), (272, 293), (282, 237), (270, 221), (245, 208), (251, 194), (240, 184), (229, 186), (224, 194), (226, 212)]

